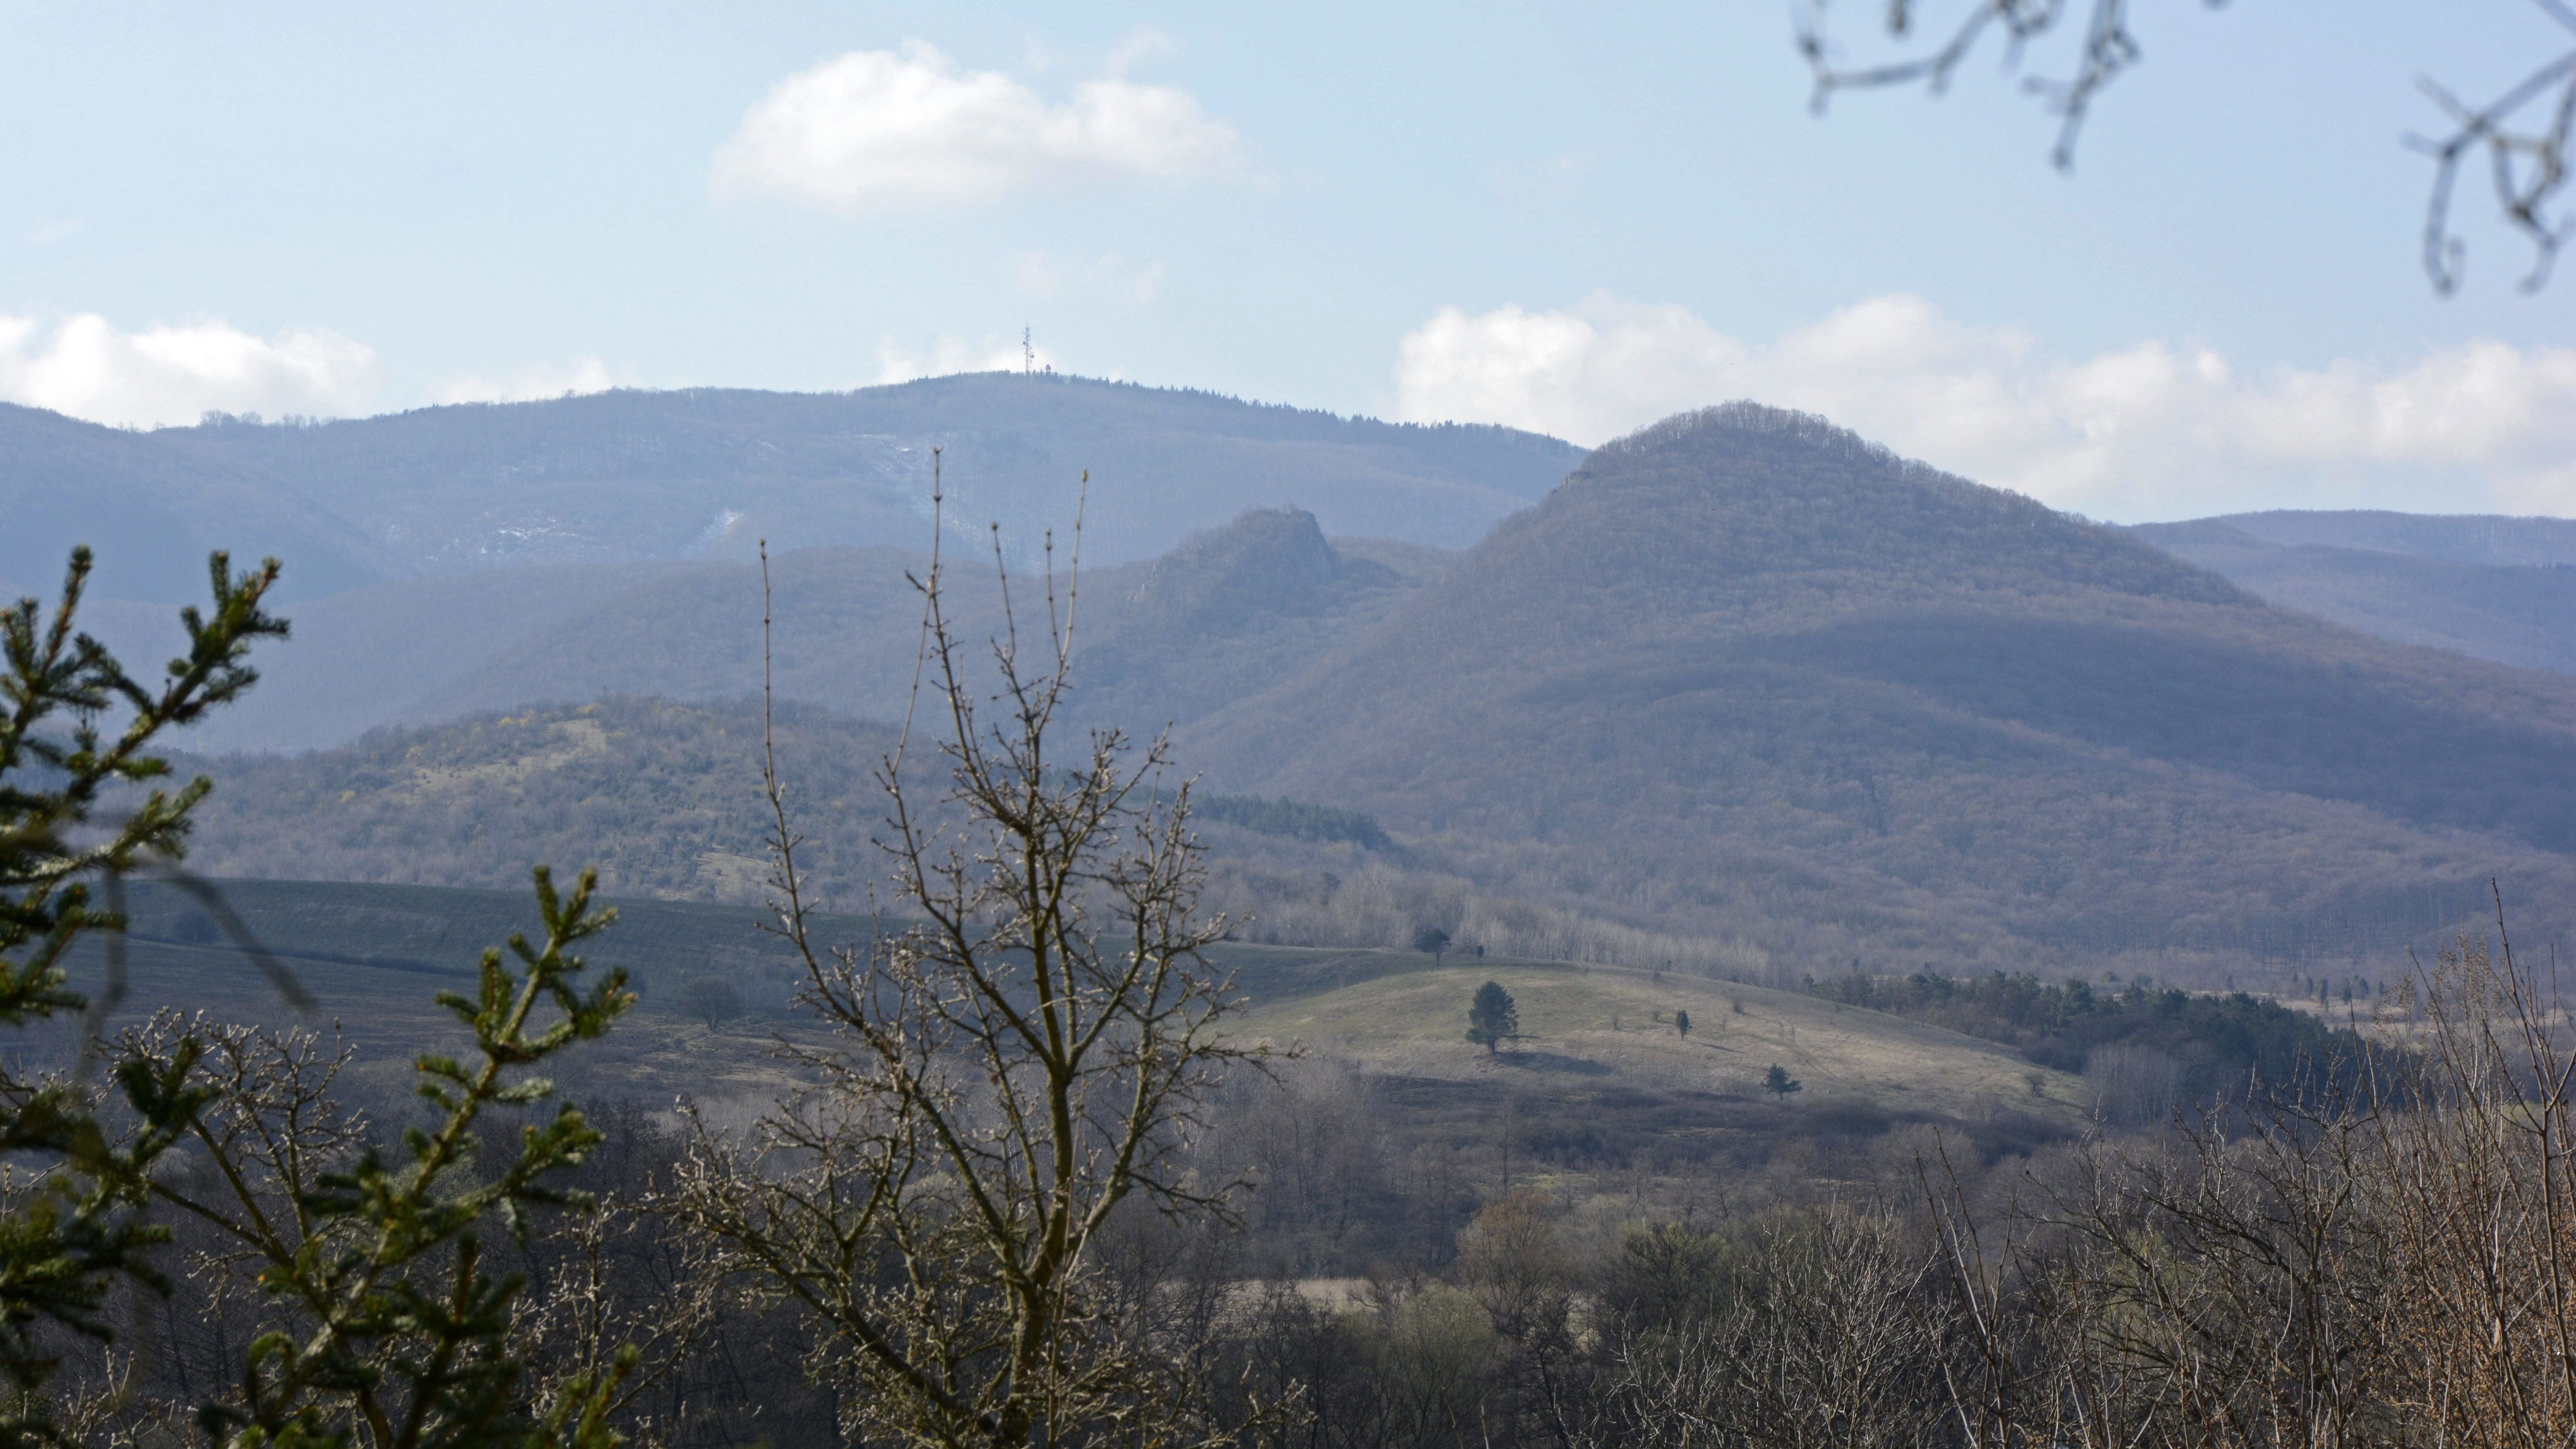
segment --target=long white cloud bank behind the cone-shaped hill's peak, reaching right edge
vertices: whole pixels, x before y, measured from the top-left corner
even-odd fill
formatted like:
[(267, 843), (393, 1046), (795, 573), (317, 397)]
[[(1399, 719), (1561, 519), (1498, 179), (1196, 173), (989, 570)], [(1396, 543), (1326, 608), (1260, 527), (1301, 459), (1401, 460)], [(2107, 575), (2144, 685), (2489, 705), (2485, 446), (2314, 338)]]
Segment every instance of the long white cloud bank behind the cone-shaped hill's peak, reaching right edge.
[(1682, 307), (1437, 312), (1396, 364), (1406, 420), (1512, 423), (1600, 443), (1754, 397), (2105, 518), (2246, 508), (2576, 516), (2576, 348), (2460, 343), (2406, 366), (2246, 371), (2141, 340), (2050, 356), (1919, 297), (1749, 343)]

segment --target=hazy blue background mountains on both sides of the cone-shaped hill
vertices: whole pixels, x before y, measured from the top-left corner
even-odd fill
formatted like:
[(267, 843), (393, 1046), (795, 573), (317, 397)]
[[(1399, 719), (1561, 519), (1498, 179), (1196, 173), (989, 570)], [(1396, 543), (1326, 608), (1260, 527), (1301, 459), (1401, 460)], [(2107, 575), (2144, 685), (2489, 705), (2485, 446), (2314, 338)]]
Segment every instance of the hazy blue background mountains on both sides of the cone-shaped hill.
[[(88, 541), (100, 554), (90, 624), (155, 657), (175, 645), (170, 606), (198, 588), (206, 549), (283, 557), (278, 598), (296, 639), (270, 650), (263, 688), (204, 732), (211, 750), (322, 748), (613, 688), (706, 699), (747, 688), (760, 541), (778, 585), (801, 593), (791, 629), (855, 629), (909, 657), (902, 578), (930, 541), (933, 449), (945, 451), (953, 547), (989, 554), (999, 541), (1036, 572), (1054, 531), (1064, 567), (1079, 508), (1095, 578), (1198, 547), (1200, 534), (1231, 539), (1229, 523), (1260, 511), (1314, 516), (1309, 554), (1332, 536), (1358, 575), (1391, 565), (1422, 580), (1582, 459), (1504, 428), (1020, 374), (853, 394), (611, 392), (332, 423), (211, 415), (152, 433), (0, 407), (0, 508), (18, 523), (0, 536), (0, 590), (46, 590), (70, 544)], [(2576, 673), (2576, 572), (2563, 567), (2576, 523), (2259, 513), (2133, 536), (2365, 634)], [(1358, 575), (1334, 590), (1368, 593)], [(966, 572), (953, 578), (971, 588)], [(1327, 627), (1298, 614), (1314, 598), (1288, 583), (1280, 598), (1306, 603), (1275, 611), (1273, 645)], [(878, 629), (889, 616), (896, 624)], [(1170, 657), (1188, 637), (1110, 647), (1095, 678), (1110, 683), (1113, 655)], [(623, 657), (595, 657), (603, 639)], [(871, 647), (817, 637), (799, 652), (842, 663)], [(1218, 657), (1244, 663), (1239, 650)], [(1218, 688), (1185, 668), (1157, 673)], [(829, 670), (793, 688), (886, 709), (878, 683)]]

